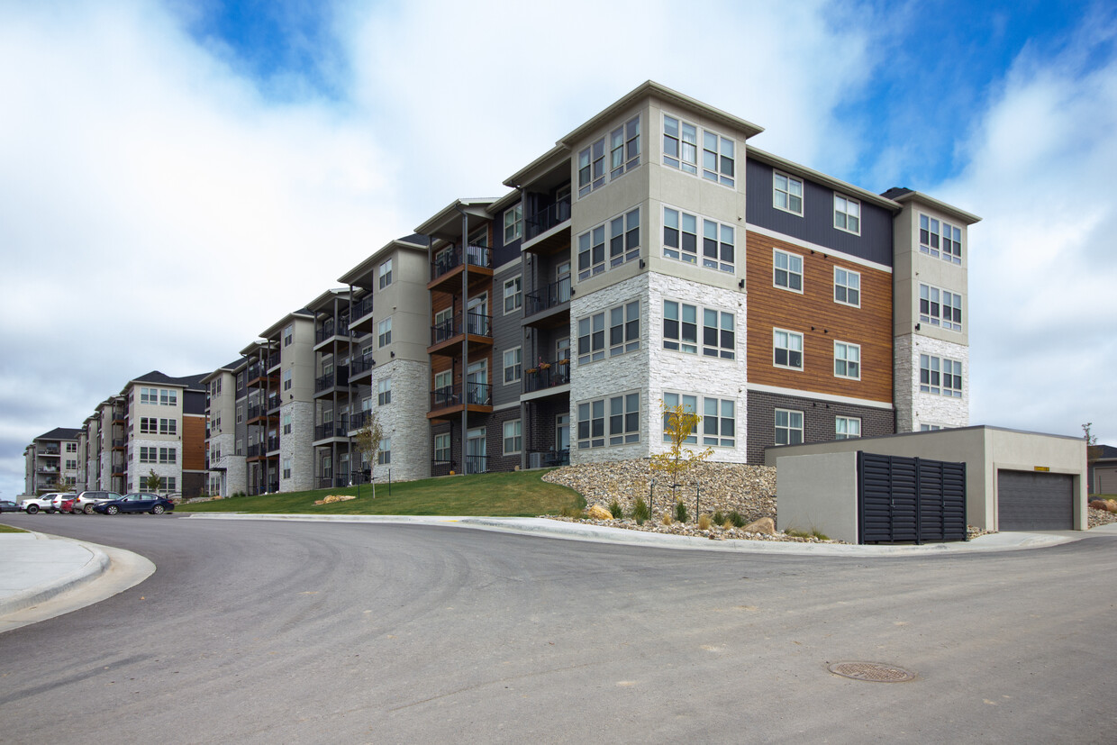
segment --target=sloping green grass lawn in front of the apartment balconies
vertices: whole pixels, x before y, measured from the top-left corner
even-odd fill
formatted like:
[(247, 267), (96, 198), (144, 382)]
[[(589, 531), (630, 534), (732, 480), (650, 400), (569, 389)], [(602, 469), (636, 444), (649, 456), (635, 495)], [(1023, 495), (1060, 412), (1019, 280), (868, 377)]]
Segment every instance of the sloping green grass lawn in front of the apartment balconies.
[(584, 506), (582, 496), (541, 477), (551, 469), (445, 476), (392, 485), (363, 485), (361, 496), (349, 502), (315, 505), (328, 494), (355, 495), (355, 486), (338, 489), (290, 491), (271, 496), (231, 497), (181, 505), (176, 513), (281, 513), (307, 515), (461, 515), (486, 517), (534, 517), (556, 515), (563, 507)]

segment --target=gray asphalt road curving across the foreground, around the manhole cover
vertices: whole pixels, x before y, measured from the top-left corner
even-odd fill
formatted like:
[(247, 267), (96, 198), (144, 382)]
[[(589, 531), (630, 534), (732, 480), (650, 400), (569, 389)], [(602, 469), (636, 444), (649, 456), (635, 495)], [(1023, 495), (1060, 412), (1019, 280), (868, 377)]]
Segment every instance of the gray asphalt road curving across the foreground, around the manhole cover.
[[(4, 517), (157, 566), (0, 634), (4, 743), (1117, 741), (1117, 536), (853, 560)], [(828, 671), (855, 660), (917, 677)]]

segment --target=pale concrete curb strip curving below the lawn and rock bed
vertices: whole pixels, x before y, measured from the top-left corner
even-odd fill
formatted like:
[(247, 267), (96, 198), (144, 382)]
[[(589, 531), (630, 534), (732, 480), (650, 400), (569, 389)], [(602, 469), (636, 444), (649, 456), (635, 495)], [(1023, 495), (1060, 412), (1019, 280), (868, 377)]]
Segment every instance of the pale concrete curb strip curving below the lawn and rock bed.
[(246, 519), (246, 520), (294, 520), (326, 523), (381, 523), (402, 525), (435, 525), (442, 527), (467, 527), (516, 535), (535, 535), (567, 541), (590, 541), (618, 545), (675, 548), (690, 551), (716, 551), (723, 553), (770, 553), (799, 554), (812, 556), (935, 556), (954, 553), (986, 553), (1041, 548), (1069, 543), (1085, 537), (1044, 533), (997, 533), (983, 535), (965, 543), (935, 543), (919, 546), (870, 546), (827, 543), (794, 543), (782, 541), (712, 541), (697, 536), (665, 535), (643, 531), (564, 523), (544, 517), (443, 517), (410, 515), (278, 515), (245, 513), (191, 513), (190, 519)]

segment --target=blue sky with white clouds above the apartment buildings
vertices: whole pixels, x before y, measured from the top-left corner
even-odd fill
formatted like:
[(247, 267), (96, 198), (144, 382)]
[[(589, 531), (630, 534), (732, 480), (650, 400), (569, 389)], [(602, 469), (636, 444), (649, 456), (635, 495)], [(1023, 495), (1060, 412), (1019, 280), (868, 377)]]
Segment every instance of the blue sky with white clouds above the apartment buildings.
[(0, 497), (653, 79), (970, 229), (971, 422), (1117, 445), (1117, 7), (0, 0)]

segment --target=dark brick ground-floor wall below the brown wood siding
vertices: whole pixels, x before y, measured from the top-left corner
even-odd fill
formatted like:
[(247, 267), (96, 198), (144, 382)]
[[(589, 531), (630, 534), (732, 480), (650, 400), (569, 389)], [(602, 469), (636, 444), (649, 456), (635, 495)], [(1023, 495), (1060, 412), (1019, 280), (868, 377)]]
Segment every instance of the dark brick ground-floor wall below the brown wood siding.
[(803, 412), (803, 442), (833, 440), (836, 417), (859, 418), (861, 420), (861, 437), (896, 433), (895, 412), (888, 409), (750, 391), (747, 430), (750, 464), (763, 465), (764, 448), (775, 445), (776, 409)]

